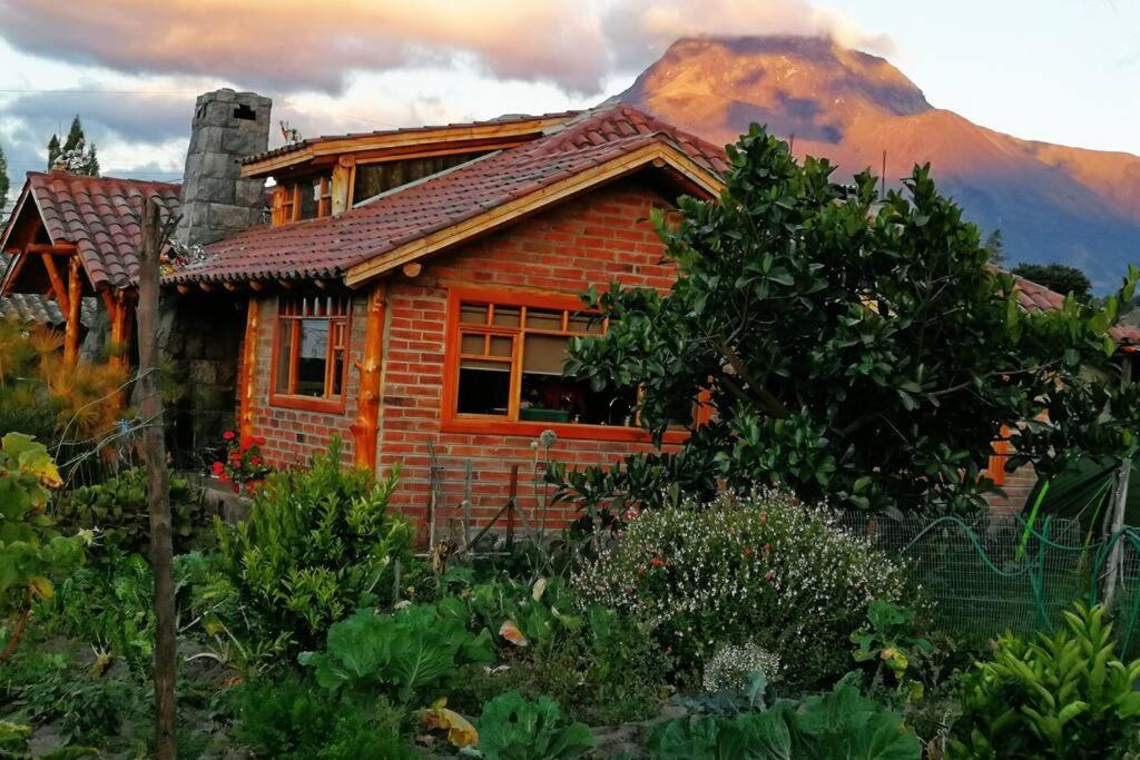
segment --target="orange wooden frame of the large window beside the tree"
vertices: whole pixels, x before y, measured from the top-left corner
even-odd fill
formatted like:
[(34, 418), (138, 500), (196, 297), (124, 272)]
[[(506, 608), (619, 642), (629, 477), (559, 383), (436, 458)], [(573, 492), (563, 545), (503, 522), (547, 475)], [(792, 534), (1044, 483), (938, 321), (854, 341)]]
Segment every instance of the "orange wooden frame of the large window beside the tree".
[[(477, 325), (462, 321), (462, 309), (465, 303), (490, 305), (488, 321)], [(519, 309), (518, 327), (500, 327), (494, 324), (496, 307)], [(526, 327), (527, 310), (562, 311), (561, 329), (538, 329)], [(519, 419), (522, 387), (522, 345), (527, 335), (583, 336), (598, 333), (584, 333), (569, 329), (568, 320), (571, 313), (588, 313), (581, 301), (575, 295), (536, 293), (527, 291), (495, 291), (487, 288), (453, 287), (448, 295), (447, 333), (443, 356), (443, 393), (441, 427), (446, 432), (482, 433), (499, 435), (537, 436), (546, 430), (553, 430), (560, 438), (585, 439), (595, 441), (636, 441), (650, 442), (652, 436), (641, 427), (622, 425), (596, 425), (591, 423), (551, 423)], [(602, 322), (602, 334), (609, 328), (609, 320)], [(462, 334), (477, 333), (487, 336), (482, 354), (466, 354), (462, 350)], [(510, 356), (492, 356), (489, 350), (492, 337), (510, 337), (513, 342)], [(507, 397), (506, 416), (467, 415), (458, 412), (459, 403), (459, 365), (464, 359), (481, 361), (500, 361), (511, 365), (510, 392)], [(698, 416), (700, 424), (700, 415)], [(673, 430), (665, 433), (666, 443), (677, 443), (687, 438), (687, 431)]]

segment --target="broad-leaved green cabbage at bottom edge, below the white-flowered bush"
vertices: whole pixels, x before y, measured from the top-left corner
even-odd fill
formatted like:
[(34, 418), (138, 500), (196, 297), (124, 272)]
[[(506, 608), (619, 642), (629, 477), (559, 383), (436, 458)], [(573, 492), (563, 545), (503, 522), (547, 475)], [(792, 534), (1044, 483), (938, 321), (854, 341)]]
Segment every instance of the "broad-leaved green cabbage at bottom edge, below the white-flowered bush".
[(870, 700), (845, 678), (801, 702), (779, 700), (760, 712), (731, 718), (677, 718), (650, 739), (654, 760), (715, 758), (876, 758), (919, 760), (921, 743), (902, 718)]

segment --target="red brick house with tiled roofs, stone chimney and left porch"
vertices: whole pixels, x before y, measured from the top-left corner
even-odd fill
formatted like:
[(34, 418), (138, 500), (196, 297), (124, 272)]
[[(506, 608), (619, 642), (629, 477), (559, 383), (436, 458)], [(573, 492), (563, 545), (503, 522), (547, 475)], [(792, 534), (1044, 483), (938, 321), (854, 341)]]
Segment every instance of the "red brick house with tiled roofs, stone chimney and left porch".
[[(181, 186), (30, 174), (0, 294), (97, 294), (111, 340), (125, 340), (138, 213), (157, 197), (181, 220), (164, 277), (166, 351), (185, 384), (226, 401), (213, 416), (197, 401), (176, 417), (217, 434), (236, 416), (278, 466), (339, 435), (345, 464), (401, 467), (406, 513), (454, 512), (470, 497), (475, 522), (503, 506), (512, 471), (521, 502), (534, 502), (545, 430), (568, 464), (651, 448), (632, 394), (562, 378), (562, 359), (573, 336), (606, 329), (583, 311), (589, 286), (671, 286), (650, 211), (715, 196), (720, 148), (613, 104), (268, 150), (269, 108), (254, 93), (199, 97)], [(1026, 309), (1062, 301), (1018, 288)], [(1125, 350), (1140, 343), (1140, 330), (1114, 329)], [(1020, 506), (1032, 485), (1032, 473), (1003, 473), (1007, 455), (999, 447), (991, 467), (1010, 489), (999, 508)]]

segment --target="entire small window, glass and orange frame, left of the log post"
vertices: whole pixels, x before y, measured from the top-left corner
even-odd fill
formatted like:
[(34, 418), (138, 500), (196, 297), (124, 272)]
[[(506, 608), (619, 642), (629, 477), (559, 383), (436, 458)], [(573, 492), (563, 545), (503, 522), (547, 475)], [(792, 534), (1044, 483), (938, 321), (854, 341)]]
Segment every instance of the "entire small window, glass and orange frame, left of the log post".
[(321, 295), (278, 300), (272, 403), (342, 411), (348, 335), (347, 297)]

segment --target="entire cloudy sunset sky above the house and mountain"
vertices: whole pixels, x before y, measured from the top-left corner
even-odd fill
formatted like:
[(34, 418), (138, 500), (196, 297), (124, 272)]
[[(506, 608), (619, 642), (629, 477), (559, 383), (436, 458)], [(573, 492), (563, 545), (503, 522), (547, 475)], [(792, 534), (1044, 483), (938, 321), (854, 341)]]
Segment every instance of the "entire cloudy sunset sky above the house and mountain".
[(219, 87), (314, 137), (589, 106), (678, 36), (766, 33), (881, 55), (992, 129), (1140, 154), (1138, 0), (0, 0), (9, 206), (75, 114), (105, 174), (177, 179)]

